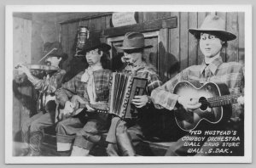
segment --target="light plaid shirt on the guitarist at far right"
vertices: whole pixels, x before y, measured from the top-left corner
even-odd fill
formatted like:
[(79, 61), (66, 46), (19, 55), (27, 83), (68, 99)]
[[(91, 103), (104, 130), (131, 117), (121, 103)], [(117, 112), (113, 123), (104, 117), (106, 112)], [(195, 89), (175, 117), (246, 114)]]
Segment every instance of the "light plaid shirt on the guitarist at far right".
[[(172, 92), (179, 81), (189, 81), (199, 85), (208, 81), (224, 83), (229, 87), (230, 94), (242, 95), (244, 92), (244, 66), (236, 62), (223, 63), (220, 57), (214, 59), (208, 66), (204, 62), (200, 65), (190, 66), (163, 86), (154, 89), (151, 97), (156, 108), (174, 109), (178, 96)], [(240, 120), (243, 109), (238, 104), (232, 104), (232, 108), (230, 120)]]

